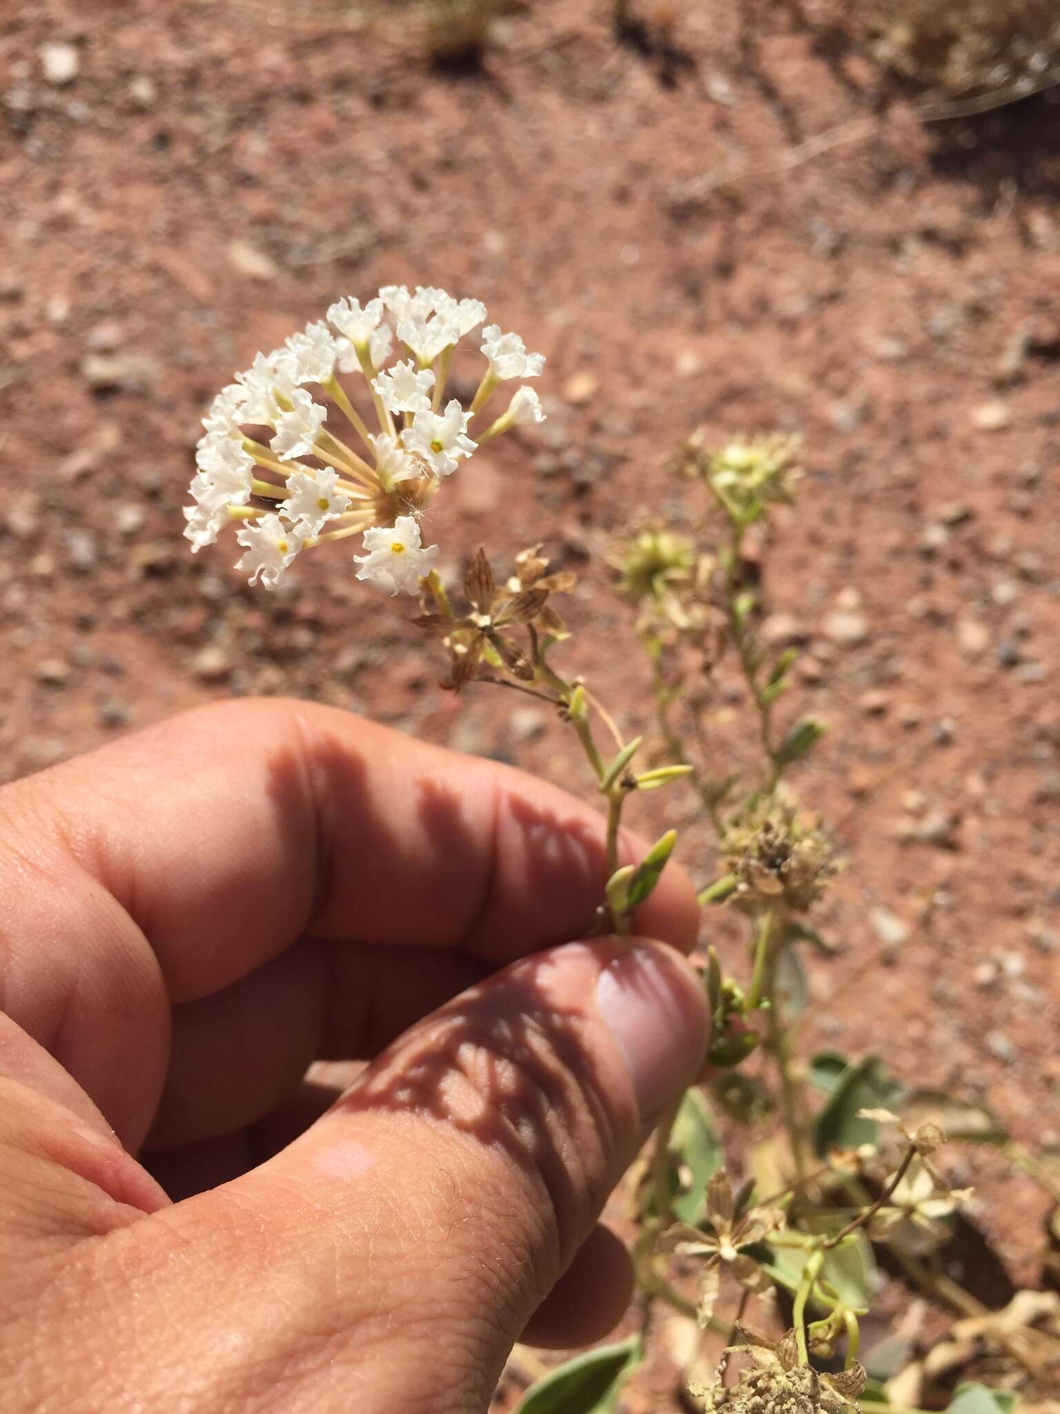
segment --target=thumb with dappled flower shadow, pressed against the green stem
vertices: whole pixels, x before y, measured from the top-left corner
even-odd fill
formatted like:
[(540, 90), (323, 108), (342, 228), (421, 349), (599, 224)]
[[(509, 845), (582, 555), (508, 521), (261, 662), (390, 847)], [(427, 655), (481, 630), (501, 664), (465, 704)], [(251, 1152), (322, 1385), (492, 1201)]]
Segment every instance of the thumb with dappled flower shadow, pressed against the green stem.
[(661, 945), (516, 963), (406, 1032), (276, 1158), (160, 1215), (170, 1316), (178, 1301), (195, 1340), (223, 1312), (208, 1345), (229, 1398), (246, 1359), (254, 1387), (283, 1381), (284, 1410), (485, 1411), (707, 1035), (702, 987)]

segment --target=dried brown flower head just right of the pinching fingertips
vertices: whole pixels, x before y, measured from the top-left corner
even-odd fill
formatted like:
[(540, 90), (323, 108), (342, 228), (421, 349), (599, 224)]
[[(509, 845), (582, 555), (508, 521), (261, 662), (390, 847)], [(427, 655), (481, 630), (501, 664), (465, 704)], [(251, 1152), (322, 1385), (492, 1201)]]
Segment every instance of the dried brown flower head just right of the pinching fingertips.
[(743, 905), (783, 902), (796, 913), (806, 912), (838, 870), (825, 834), (775, 799), (734, 820), (722, 850), (736, 880), (732, 898)]

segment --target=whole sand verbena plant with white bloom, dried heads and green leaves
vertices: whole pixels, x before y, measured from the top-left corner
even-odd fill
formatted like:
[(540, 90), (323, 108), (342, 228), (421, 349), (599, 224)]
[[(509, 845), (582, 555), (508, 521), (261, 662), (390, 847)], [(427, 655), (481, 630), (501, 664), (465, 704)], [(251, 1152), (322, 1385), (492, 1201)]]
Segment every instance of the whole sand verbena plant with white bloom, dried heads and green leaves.
[[(876, 1056), (801, 1053), (806, 959), (834, 950), (820, 913), (841, 860), (794, 789), (824, 725), (786, 713), (797, 653), (759, 633), (760, 542), (777, 508), (796, 501), (799, 444), (694, 434), (669, 468), (691, 493), (691, 530), (646, 523), (616, 543), (616, 587), (657, 721), (654, 741), (630, 740), (620, 713), (570, 665), (574, 643), (557, 601), (575, 588), (572, 574), (553, 570), (540, 546), (514, 554), (464, 546), (457, 584), (428, 543), (448, 479), (473, 475), (483, 444), (544, 417), (523, 382), (543, 372), (544, 358), (486, 318), (478, 300), (390, 286), (363, 305), (338, 300), (326, 322), (257, 355), (204, 421), (185, 536), (199, 550), (232, 530), (237, 567), (264, 588), (325, 546), (366, 592), (418, 598), (414, 622), (448, 665), (445, 687), (503, 687), (547, 704), (577, 741), (605, 814), (601, 929), (630, 932), (676, 844), (666, 830), (643, 858), (625, 860), (632, 800), (688, 790), (714, 836), (698, 861), (700, 898), (725, 909), (745, 942), (725, 966), (714, 947), (702, 953), (712, 1080), (660, 1117), (630, 1182), (639, 1326), (546, 1376), (522, 1414), (613, 1410), (660, 1311), (694, 1333), (681, 1381), (705, 1408), (841, 1414), (861, 1400), (885, 1414), (886, 1390), (862, 1359), (864, 1321), (882, 1285), (878, 1257), (907, 1288), (977, 1321), (975, 1339), (998, 1353), (1011, 1384), (1044, 1387), (1060, 1369), (1060, 1298), (1054, 1331), (1047, 1304), (1033, 1321), (991, 1312), (938, 1254), (968, 1198), (958, 1144), (1003, 1148), (1059, 1199), (1060, 1184), (982, 1106), (905, 1085)], [(475, 345), (483, 362), (465, 407), (447, 386), (454, 359)], [(502, 385), (514, 385), (503, 404), (495, 403)], [(349, 556), (342, 542), (352, 537), (360, 553)], [(741, 769), (715, 730), (734, 679)], [(705, 1367), (708, 1338), (724, 1349)], [(909, 1370), (905, 1406), (924, 1387), (909, 1397)], [(982, 1414), (1005, 1414), (989, 1390), (977, 1397), (988, 1401), (977, 1406)]]

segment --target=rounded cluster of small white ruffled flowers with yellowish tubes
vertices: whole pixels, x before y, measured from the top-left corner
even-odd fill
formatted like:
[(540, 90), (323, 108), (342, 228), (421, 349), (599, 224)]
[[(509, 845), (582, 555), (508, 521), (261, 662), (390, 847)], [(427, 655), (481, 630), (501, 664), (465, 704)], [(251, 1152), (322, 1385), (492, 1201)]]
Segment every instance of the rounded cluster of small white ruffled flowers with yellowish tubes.
[[(389, 594), (418, 592), (438, 557), (438, 546), (423, 544), (421, 519), (442, 478), (482, 443), (544, 421), (537, 393), (522, 385), (505, 413), (469, 436), (499, 383), (537, 378), (544, 368), (541, 354), (529, 354), (517, 334), (496, 324), (481, 332), (486, 372), (469, 409), (445, 400), (454, 351), (485, 320), (478, 300), (391, 284), (365, 305), (352, 296), (338, 300), (326, 322), (259, 354), (202, 420), (194, 503), (184, 509), (192, 551), (237, 523), (245, 553), (236, 568), (273, 588), (301, 550), (359, 534), (359, 580)], [(397, 359), (387, 368), (394, 344)], [(339, 375), (353, 375), (370, 399), (376, 431)], [(329, 424), (334, 414), (345, 419), (342, 437)]]

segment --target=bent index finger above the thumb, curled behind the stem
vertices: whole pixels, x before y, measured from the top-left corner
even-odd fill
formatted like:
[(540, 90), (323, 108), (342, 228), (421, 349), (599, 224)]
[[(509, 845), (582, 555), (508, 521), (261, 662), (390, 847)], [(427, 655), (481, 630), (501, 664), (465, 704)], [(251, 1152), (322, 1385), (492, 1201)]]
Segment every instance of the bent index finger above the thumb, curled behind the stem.
[[(509, 766), (336, 708), (235, 701), (171, 718), (7, 788), (10, 812), (98, 880), (151, 943), (172, 1001), (298, 936), (464, 947), (496, 966), (589, 932), (603, 823)], [(643, 846), (623, 841), (636, 858)], [(637, 916), (684, 950), (688, 878)]]

